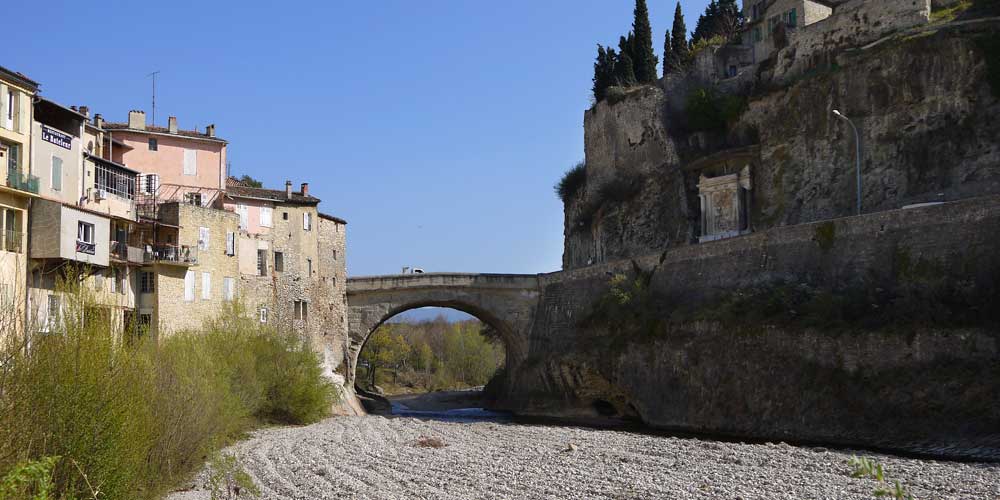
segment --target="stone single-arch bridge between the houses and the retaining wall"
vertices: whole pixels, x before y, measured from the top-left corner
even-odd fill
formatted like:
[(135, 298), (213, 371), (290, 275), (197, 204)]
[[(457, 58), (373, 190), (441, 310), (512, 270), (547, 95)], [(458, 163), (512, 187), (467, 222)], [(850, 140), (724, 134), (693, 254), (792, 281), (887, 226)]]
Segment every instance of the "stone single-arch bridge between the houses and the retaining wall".
[(449, 307), (492, 326), (507, 349), (507, 367), (528, 353), (540, 295), (539, 276), (525, 274), (406, 274), (347, 280), (349, 373), (353, 387), (358, 355), (382, 323), (421, 307)]

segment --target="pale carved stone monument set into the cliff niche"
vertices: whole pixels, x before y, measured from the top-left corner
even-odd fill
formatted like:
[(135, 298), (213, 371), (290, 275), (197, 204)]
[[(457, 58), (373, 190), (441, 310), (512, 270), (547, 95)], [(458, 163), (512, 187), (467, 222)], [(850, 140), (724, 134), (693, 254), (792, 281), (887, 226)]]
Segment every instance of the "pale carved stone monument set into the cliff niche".
[(750, 229), (750, 166), (739, 173), (698, 179), (701, 200), (701, 237), (699, 241), (716, 241), (749, 234)]

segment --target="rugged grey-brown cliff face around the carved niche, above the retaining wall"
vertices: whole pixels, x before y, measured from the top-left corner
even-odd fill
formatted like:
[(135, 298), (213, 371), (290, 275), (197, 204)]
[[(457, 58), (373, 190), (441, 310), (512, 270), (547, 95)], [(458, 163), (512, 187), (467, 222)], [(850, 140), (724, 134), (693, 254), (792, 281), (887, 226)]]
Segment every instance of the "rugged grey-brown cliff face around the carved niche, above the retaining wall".
[[(787, 85), (759, 82), (725, 132), (687, 132), (683, 99), (659, 88), (599, 103), (585, 116), (588, 181), (566, 204), (563, 267), (696, 241), (706, 168), (751, 167), (754, 231), (851, 215), (854, 137), (834, 109), (862, 136), (865, 212), (1000, 192), (1000, 101), (987, 76), (997, 56), (982, 43), (992, 28), (900, 36), (834, 54)], [(727, 159), (745, 146), (755, 157)]]

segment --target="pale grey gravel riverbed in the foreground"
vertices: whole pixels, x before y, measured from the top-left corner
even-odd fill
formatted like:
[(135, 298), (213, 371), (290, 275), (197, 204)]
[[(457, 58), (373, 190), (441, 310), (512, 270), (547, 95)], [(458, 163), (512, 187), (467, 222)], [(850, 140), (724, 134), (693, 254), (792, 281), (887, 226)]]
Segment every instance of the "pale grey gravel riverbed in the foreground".
[[(876, 486), (848, 475), (850, 452), (492, 422), (339, 417), (228, 451), (264, 498), (868, 500)], [(921, 500), (1000, 499), (1000, 464), (875, 458)], [(204, 483), (168, 499), (208, 499)]]

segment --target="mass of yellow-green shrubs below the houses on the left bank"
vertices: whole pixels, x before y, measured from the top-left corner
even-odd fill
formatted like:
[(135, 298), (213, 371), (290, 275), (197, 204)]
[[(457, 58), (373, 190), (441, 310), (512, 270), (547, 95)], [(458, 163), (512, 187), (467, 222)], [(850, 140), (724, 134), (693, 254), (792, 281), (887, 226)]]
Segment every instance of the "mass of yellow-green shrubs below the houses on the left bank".
[(87, 321), (85, 290), (62, 294), (63, 321), (30, 348), (0, 318), (0, 473), (62, 457), (54, 498), (156, 497), (255, 425), (309, 423), (332, 405), (307, 342), (239, 306), (202, 331), (128, 343)]

